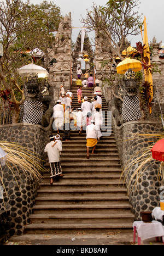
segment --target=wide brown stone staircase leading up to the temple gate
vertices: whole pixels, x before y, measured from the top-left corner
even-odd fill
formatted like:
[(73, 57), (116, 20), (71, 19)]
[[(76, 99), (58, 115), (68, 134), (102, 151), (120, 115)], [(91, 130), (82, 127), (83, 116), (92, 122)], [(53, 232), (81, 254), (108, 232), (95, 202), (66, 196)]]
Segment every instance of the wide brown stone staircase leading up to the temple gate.
[[(77, 87), (72, 85), (73, 107), (77, 108)], [(92, 97), (93, 88), (83, 88)], [(103, 109), (107, 104), (103, 99)], [(133, 214), (121, 176), (121, 164), (113, 132), (101, 137), (95, 154), (86, 159), (85, 131), (71, 131), (63, 141), (61, 166), (64, 176), (50, 185), (48, 172), (40, 184), (36, 205), (26, 233), (99, 233), (132, 230)], [(62, 133), (61, 133), (62, 136)]]

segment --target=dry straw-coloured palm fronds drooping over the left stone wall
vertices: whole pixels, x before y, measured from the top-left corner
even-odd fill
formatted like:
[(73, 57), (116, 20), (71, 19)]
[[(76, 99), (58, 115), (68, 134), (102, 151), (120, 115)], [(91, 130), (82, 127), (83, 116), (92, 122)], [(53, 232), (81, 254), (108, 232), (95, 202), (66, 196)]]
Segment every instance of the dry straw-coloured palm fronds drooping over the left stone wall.
[[(19, 180), (24, 174), (26, 177), (32, 177), (37, 182), (43, 181), (43, 172), (46, 171), (44, 166), (40, 163), (43, 161), (39, 158), (38, 154), (34, 154), (32, 151), (20, 144), (15, 142), (0, 141), (0, 147), (7, 153), (7, 158), (5, 159), (5, 166), (8, 167), (11, 175), (15, 179), (17, 186), (21, 191), (19, 186)], [(9, 197), (8, 191), (6, 189), (6, 183), (4, 182), (4, 168), (0, 164), (0, 184), (3, 186), (7, 197)], [(5, 202), (4, 202), (5, 205)]]

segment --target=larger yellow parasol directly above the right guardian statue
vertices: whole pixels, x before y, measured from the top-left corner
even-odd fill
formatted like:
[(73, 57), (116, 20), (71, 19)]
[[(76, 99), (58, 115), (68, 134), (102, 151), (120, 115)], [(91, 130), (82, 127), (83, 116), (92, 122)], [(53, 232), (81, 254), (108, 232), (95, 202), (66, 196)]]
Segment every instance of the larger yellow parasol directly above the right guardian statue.
[(126, 58), (116, 66), (118, 74), (125, 74), (128, 69), (132, 69), (134, 72), (137, 72), (142, 69), (142, 64), (137, 59)]

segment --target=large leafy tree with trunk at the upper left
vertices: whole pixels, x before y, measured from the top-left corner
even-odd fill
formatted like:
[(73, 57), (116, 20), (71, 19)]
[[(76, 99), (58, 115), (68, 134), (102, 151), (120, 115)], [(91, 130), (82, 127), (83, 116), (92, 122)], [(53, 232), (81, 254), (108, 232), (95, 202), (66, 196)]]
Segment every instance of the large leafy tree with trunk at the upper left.
[(13, 123), (17, 123), (20, 105), (25, 100), (22, 90), (24, 79), (19, 76), (17, 69), (31, 62), (34, 52), (30, 53), (30, 50), (40, 49), (44, 53), (39, 60), (42, 61), (48, 54), (48, 48), (62, 43), (62, 38), (55, 41), (52, 33), (57, 31), (61, 19), (60, 8), (46, 1), (40, 5), (30, 5), (29, 1), (23, 3), (20, 0), (0, 2), (0, 43), (3, 48), (0, 85), (10, 94), (14, 106)]

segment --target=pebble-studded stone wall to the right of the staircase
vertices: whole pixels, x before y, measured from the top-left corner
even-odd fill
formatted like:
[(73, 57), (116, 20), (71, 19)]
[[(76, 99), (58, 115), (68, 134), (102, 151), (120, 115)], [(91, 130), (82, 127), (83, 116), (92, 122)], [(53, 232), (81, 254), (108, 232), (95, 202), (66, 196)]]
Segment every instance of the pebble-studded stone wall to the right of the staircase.
[[(157, 138), (140, 137), (137, 136), (137, 133), (162, 132), (163, 128), (160, 121), (130, 121), (118, 127), (113, 118), (113, 130), (118, 145), (121, 164), (122, 166), (125, 166), (128, 160), (136, 158), (134, 157), (134, 154), (140, 149), (157, 141)], [(155, 207), (160, 206), (160, 186), (162, 186), (163, 183), (161, 181), (159, 182), (157, 177), (159, 163), (160, 162), (155, 160), (151, 162), (148, 168), (144, 171), (137, 186), (133, 186), (135, 179), (131, 182), (131, 192), (129, 197), (130, 204), (132, 205), (132, 213), (136, 220), (142, 219), (142, 211), (152, 211)], [(130, 172), (125, 172), (125, 175), (127, 175), (125, 179), (126, 186), (130, 181), (132, 173), (137, 167), (138, 164), (134, 164)]]

